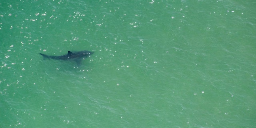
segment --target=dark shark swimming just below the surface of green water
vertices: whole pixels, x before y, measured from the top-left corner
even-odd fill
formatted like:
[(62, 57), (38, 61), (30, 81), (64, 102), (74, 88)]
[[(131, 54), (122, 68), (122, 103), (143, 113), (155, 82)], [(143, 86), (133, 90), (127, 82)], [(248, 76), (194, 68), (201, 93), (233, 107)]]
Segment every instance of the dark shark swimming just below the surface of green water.
[(84, 60), (84, 58), (92, 55), (94, 52), (90, 51), (79, 51), (79, 52), (70, 52), (68, 51), (68, 54), (62, 55), (62, 56), (48, 56), (46, 54), (39, 53), (44, 57), (44, 59), (53, 59), (53, 60), (72, 60), (75, 61), (77, 65), (81, 64), (81, 61)]

